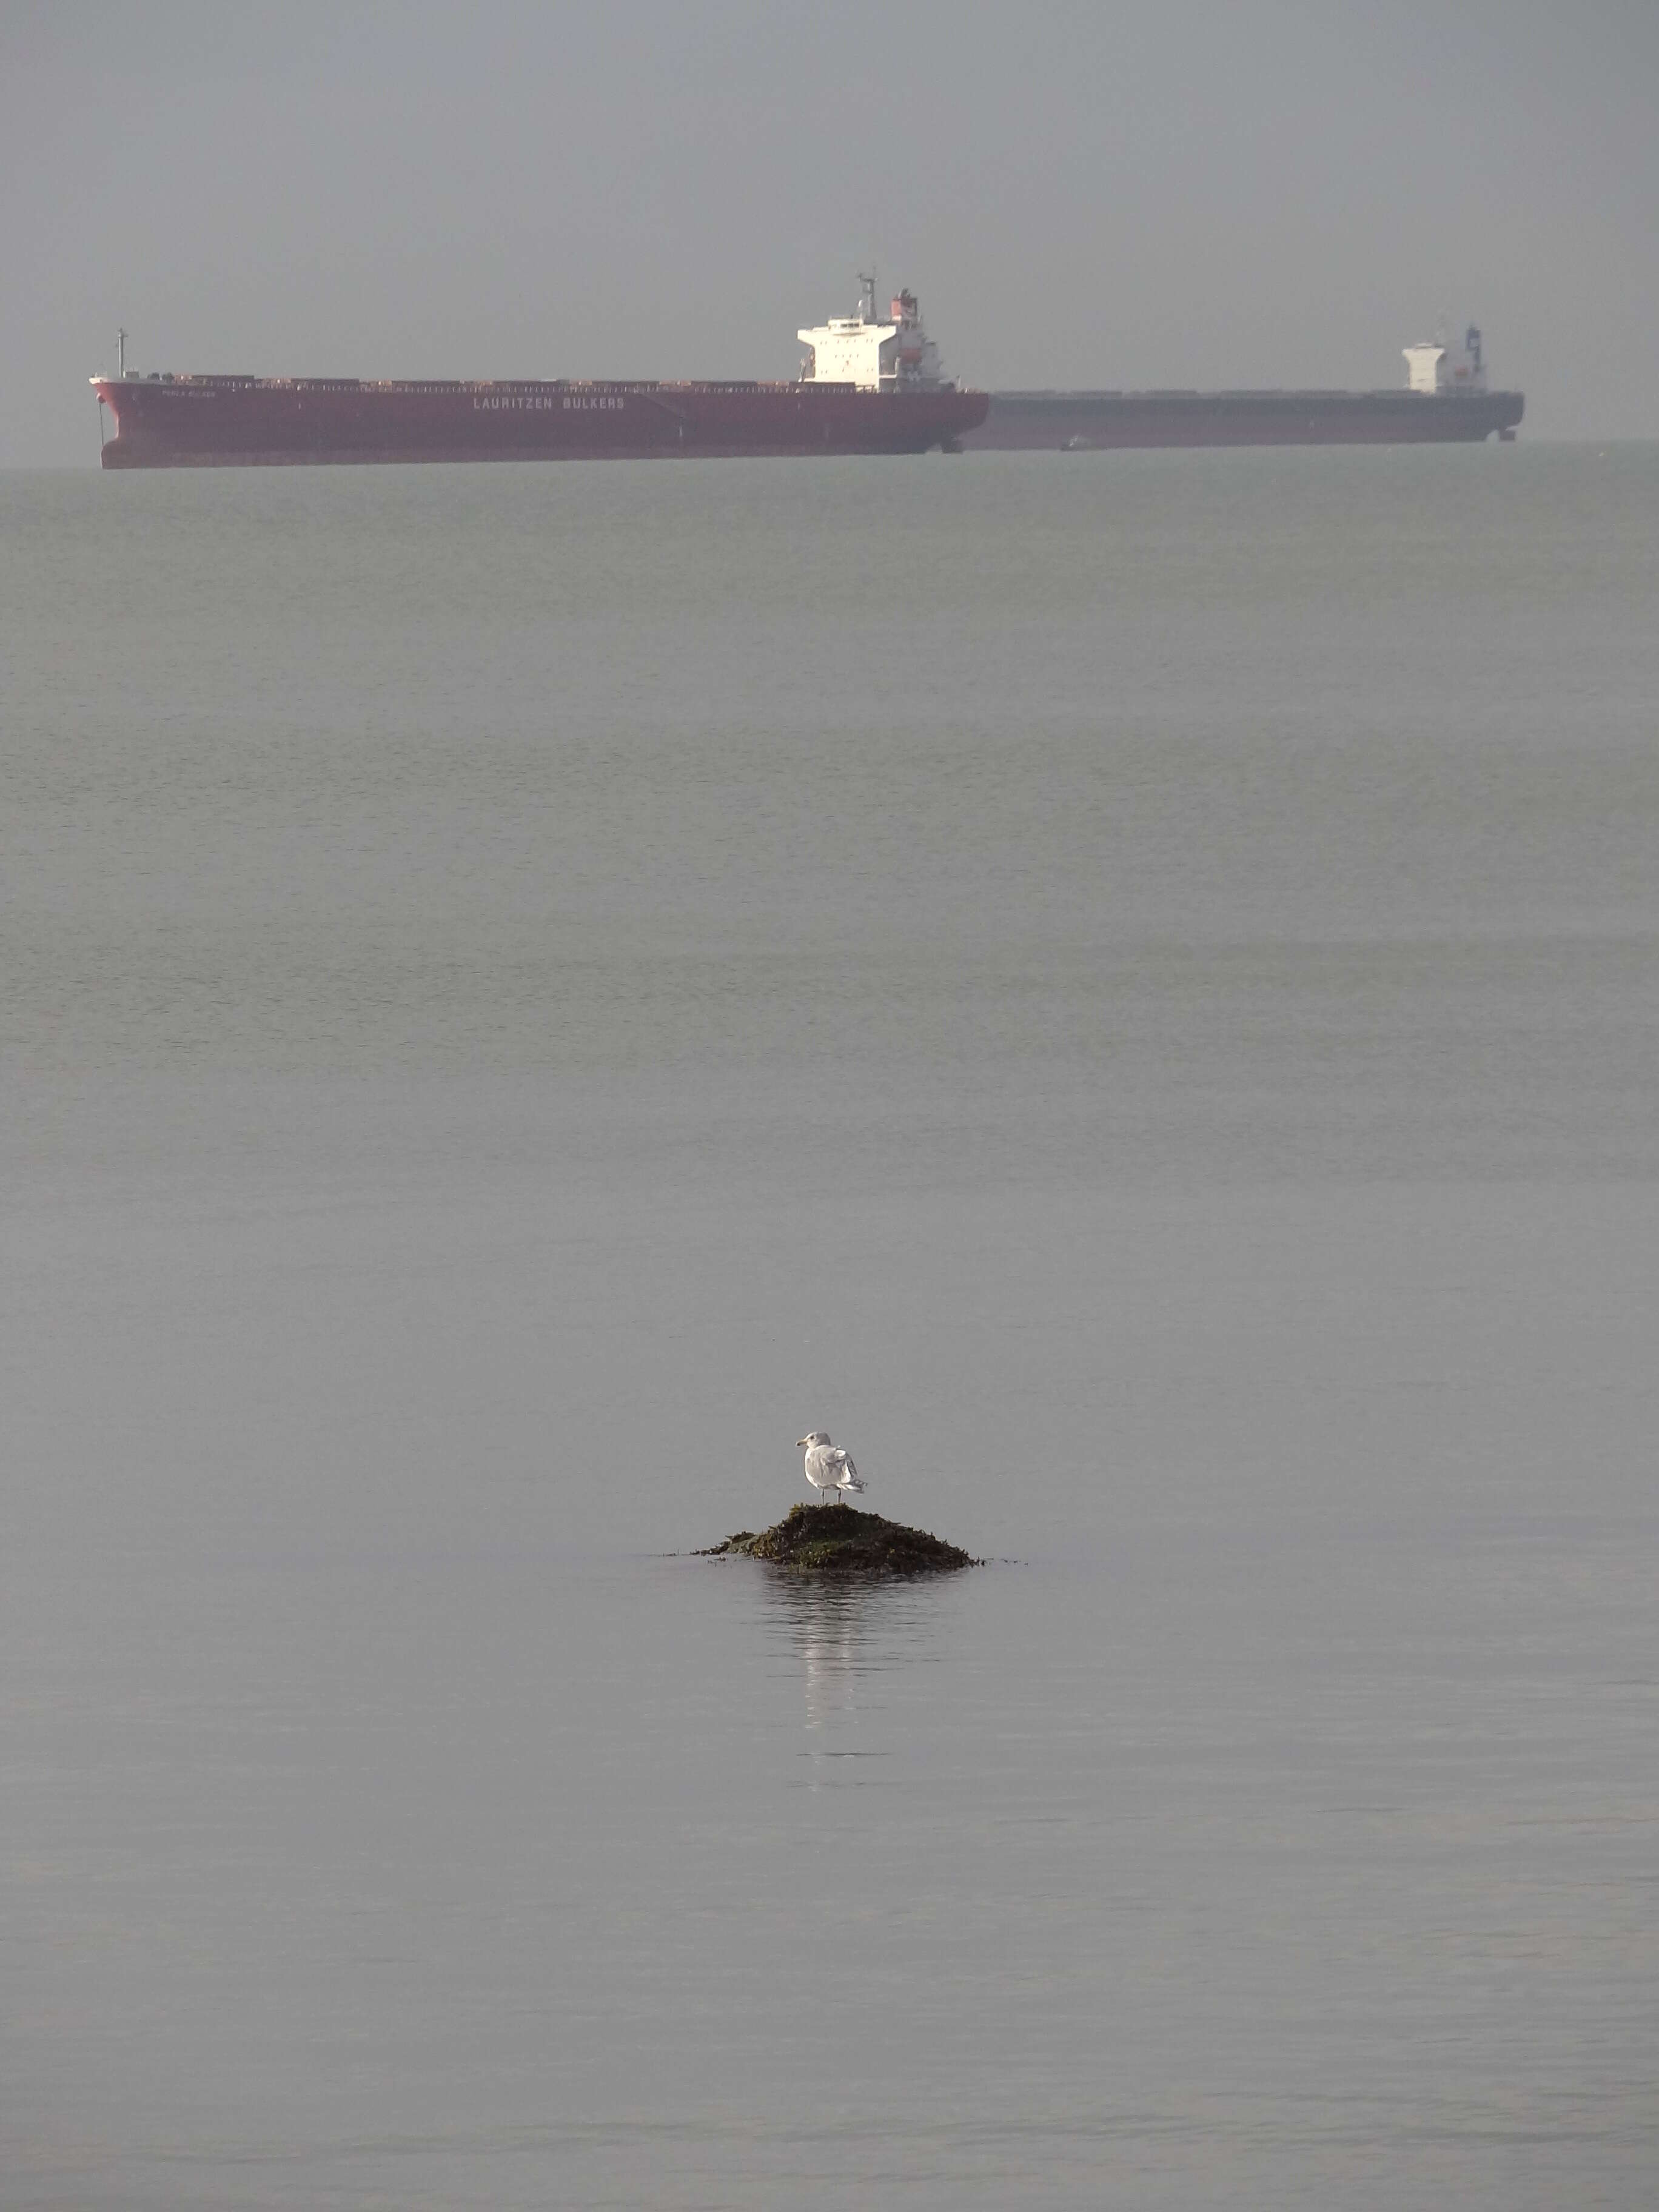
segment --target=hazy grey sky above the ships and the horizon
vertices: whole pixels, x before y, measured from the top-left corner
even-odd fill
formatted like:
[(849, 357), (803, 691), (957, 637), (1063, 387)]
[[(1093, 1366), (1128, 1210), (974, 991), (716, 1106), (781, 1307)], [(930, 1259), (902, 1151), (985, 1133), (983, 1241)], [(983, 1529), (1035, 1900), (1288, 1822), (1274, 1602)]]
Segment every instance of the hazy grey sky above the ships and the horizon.
[(93, 369), (792, 376), (854, 272), (982, 385), (1394, 385), (1659, 436), (1659, 0), (0, 0), (0, 462)]

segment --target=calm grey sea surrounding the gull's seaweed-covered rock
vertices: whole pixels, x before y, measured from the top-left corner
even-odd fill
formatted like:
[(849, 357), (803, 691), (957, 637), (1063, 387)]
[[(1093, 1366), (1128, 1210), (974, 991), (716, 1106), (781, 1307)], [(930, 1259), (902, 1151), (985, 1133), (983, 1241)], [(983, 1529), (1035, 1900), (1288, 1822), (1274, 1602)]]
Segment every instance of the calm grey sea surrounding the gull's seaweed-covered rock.
[[(9, 2212), (1639, 2208), (1659, 449), (0, 478)], [(984, 1555), (692, 1557), (805, 1495)]]

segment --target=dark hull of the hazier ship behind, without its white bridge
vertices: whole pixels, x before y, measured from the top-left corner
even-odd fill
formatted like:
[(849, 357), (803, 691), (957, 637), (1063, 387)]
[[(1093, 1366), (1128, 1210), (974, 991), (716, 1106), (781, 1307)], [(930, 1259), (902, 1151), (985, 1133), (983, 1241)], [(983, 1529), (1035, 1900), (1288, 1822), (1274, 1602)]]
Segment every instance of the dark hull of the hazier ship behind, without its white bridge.
[(1475, 445), (1511, 438), (1520, 392), (993, 392), (969, 451), (1172, 445)]

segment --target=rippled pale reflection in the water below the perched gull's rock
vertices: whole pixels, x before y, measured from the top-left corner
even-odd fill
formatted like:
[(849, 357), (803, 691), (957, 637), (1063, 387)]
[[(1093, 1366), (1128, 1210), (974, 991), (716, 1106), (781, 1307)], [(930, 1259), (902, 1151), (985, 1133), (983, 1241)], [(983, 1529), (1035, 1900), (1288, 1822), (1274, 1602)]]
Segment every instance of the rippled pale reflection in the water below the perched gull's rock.
[(947, 1593), (916, 1582), (852, 1586), (770, 1575), (763, 1608), (768, 1646), (801, 1674), (805, 1787), (880, 1778), (865, 1763), (894, 1756), (887, 1717), (896, 1677), (940, 1657)]

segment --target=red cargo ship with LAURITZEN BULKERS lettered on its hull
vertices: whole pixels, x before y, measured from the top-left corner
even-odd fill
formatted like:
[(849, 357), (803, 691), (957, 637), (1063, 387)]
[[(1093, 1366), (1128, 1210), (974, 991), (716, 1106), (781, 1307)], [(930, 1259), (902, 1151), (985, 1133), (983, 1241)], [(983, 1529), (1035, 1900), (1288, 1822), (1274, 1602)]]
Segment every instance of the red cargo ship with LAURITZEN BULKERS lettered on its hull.
[(115, 416), (106, 469), (239, 469), (290, 462), (641, 460), (659, 453), (956, 451), (984, 422), (984, 392), (940, 376), (914, 292), (876, 316), (803, 330), (796, 383), (445, 383), (354, 376), (142, 376), (93, 389)]

